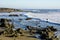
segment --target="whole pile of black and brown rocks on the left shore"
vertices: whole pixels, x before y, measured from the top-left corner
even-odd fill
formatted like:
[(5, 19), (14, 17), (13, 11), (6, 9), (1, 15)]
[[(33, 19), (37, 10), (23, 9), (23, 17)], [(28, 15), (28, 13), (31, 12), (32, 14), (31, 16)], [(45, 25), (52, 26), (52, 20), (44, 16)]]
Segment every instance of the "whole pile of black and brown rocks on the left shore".
[[(17, 32), (15, 30), (13, 30), (14, 26), (13, 24), (10, 24), (11, 20), (9, 19), (0, 19), (0, 34), (3, 32), (3, 34), (7, 37), (13, 37), (13, 36), (17, 36)], [(4, 27), (4, 30), (2, 29), (2, 27)]]

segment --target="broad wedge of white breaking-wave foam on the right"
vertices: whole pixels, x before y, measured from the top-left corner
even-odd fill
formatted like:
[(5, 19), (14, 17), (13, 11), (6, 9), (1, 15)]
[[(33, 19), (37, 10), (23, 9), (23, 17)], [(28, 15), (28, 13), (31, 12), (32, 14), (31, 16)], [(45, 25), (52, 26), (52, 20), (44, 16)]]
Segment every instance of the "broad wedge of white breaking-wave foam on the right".
[(39, 18), (41, 20), (60, 24), (60, 13), (30, 13), (29, 12), (26, 15), (32, 18)]

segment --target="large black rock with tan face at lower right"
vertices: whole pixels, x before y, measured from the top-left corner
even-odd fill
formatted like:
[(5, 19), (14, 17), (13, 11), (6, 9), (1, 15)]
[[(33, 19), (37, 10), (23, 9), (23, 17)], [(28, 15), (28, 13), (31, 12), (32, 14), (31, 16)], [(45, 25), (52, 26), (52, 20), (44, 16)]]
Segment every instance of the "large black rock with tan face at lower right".
[(37, 30), (39, 34), (41, 35), (41, 39), (45, 40), (58, 40), (57, 37), (55, 37), (54, 32), (57, 31), (53, 26), (49, 26), (47, 28), (42, 28), (40, 30)]

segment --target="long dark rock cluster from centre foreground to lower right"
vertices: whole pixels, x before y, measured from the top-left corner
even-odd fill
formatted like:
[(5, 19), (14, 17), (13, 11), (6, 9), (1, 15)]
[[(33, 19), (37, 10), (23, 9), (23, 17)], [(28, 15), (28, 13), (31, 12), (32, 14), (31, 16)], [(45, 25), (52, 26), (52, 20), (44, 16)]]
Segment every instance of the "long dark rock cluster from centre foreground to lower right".
[(55, 36), (55, 32), (57, 31), (57, 29), (53, 26), (47, 26), (46, 28), (27, 26), (27, 28), (30, 34), (33, 34), (33, 32), (35, 31), (35, 33), (40, 35), (40, 39), (42, 40), (58, 40), (57, 36)]

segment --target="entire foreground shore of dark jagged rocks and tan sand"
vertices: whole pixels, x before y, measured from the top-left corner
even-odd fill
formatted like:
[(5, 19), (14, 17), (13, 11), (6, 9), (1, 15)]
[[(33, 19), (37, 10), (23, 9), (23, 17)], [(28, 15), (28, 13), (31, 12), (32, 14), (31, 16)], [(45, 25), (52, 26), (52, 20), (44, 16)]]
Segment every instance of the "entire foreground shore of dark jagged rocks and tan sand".
[[(27, 29), (25, 30), (22, 28), (14, 29), (14, 25), (9, 23), (10, 21), (0, 19), (0, 40), (59, 40), (55, 35), (57, 29), (53, 26), (46, 28), (26, 26)], [(39, 34), (39, 38), (35, 34)]]

